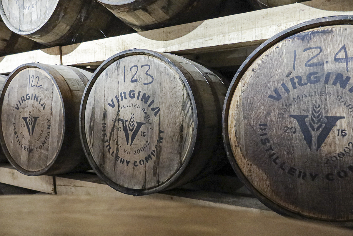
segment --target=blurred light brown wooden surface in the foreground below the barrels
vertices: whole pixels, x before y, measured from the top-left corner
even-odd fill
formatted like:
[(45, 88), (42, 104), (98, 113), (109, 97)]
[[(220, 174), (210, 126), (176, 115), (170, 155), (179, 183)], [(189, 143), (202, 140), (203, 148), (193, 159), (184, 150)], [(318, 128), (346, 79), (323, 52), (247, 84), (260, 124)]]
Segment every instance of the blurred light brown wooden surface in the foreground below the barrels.
[[(90, 196), (1, 196), (4, 235), (350, 236), (351, 230), (179, 202)], [(117, 223), (117, 220), (119, 223)]]

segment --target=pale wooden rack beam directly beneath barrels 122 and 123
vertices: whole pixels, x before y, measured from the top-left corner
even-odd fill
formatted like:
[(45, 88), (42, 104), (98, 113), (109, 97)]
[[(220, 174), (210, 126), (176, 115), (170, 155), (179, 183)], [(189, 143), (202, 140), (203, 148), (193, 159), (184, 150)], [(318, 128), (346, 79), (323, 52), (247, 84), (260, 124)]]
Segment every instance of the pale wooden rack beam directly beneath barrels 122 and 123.
[[(136, 198), (110, 188), (95, 173), (72, 173), (59, 176), (26, 176), (14, 170), (10, 164), (0, 164), (0, 183), (57, 195), (90, 195)], [(229, 184), (230, 183), (230, 184)], [(223, 188), (227, 185), (227, 188)], [(214, 189), (214, 185), (223, 192)], [(229, 209), (251, 208), (253, 211), (270, 211), (249, 191), (241, 187), (237, 177), (209, 176), (196, 183), (162, 193), (138, 196), (146, 199), (164, 199), (192, 203), (201, 206), (214, 206)], [(213, 188), (213, 189), (211, 189)], [(227, 189), (228, 193), (224, 190)]]

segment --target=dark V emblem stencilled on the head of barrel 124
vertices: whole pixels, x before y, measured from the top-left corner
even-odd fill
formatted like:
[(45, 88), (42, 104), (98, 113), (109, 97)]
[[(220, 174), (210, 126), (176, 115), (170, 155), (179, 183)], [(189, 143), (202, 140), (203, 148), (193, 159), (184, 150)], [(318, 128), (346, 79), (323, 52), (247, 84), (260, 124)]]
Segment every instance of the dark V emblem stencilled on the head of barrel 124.
[[(297, 120), (300, 130), (304, 135), (304, 140), (308, 145), (309, 149), (311, 150), (313, 136), (311, 134), (309, 126), (306, 124), (306, 118), (308, 118), (309, 116), (303, 116), (303, 115), (289, 115), (289, 116)], [(322, 144), (325, 142), (327, 136), (331, 132), (332, 128), (336, 125), (337, 121), (344, 118), (345, 118), (344, 116), (325, 116), (325, 119), (327, 119), (327, 122), (324, 123), (322, 130), (317, 135), (316, 151), (318, 151), (319, 148), (322, 146)], [(319, 128), (321, 128), (321, 126), (319, 126)], [(319, 129), (315, 131), (318, 131), (318, 130)]]

